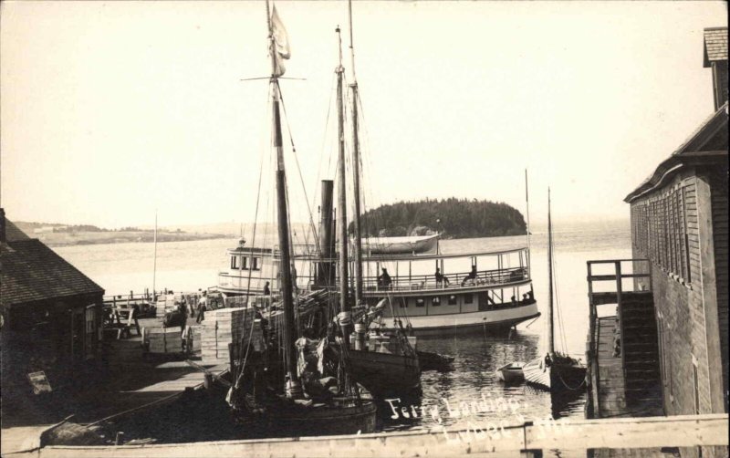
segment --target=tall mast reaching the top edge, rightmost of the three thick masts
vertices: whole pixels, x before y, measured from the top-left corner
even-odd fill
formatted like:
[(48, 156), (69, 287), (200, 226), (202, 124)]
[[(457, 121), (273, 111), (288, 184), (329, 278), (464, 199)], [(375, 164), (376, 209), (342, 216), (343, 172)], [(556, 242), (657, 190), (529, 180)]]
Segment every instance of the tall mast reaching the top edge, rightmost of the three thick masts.
[(360, 139), (358, 139), (358, 80), (355, 77), (355, 48), (352, 46), (352, 0), (348, 2), (349, 12), (349, 57), (352, 68), (352, 174), (355, 197), (355, 304), (362, 302), (362, 232), (360, 230)]

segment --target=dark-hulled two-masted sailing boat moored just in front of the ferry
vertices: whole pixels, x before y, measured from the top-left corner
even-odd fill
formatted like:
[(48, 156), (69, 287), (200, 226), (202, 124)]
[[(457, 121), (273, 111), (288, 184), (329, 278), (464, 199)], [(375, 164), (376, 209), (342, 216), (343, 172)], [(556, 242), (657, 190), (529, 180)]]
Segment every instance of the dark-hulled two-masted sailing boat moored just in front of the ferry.
[[(345, 351), (349, 356), (349, 365), (354, 380), (370, 390), (376, 398), (391, 394), (400, 394), (419, 388), (421, 384), (421, 366), (415, 350), (415, 337), (407, 337), (401, 328), (394, 328), (388, 333), (370, 332), (369, 343), (366, 344), (366, 333), (370, 324), (381, 315), (385, 306), (389, 304), (386, 297), (371, 309), (364, 304), (362, 297), (362, 237), (360, 231), (360, 139), (358, 131), (358, 82), (355, 74), (355, 51), (352, 38), (352, 2), (348, 4), (349, 12), (349, 49), (351, 58), (352, 84), (349, 85), (352, 97), (352, 174), (353, 198), (355, 203), (354, 228), (354, 266), (355, 266), (355, 301), (358, 306), (358, 315), (351, 319), (349, 307), (348, 277), (348, 231), (345, 185), (345, 132), (343, 112), (343, 68), (340, 45), (338, 77), (338, 115), (339, 115), (339, 294), (342, 304), (342, 313), (349, 314), (347, 319), (355, 321), (354, 334), (350, 336), (352, 328), (342, 328), (343, 335), (354, 338), (354, 348), (336, 351)], [(339, 27), (337, 29), (339, 38)], [(340, 39), (340, 38), (339, 38)], [(341, 43), (341, 39), (340, 39)], [(348, 345), (345, 338), (343, 347)]]

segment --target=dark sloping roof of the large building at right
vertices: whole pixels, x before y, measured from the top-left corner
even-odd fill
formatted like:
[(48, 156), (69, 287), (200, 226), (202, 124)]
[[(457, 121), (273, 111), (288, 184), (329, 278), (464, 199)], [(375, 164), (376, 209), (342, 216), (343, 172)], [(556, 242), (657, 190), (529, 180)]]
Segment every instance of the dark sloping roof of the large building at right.
[(665, 180), (685, 165), (724, 163), (727, 166), (727, 102), (705, 120), (669, 158), (662, 161), (638, 188), (623, 201), (631, 203), (644, 193), (662, 185)]

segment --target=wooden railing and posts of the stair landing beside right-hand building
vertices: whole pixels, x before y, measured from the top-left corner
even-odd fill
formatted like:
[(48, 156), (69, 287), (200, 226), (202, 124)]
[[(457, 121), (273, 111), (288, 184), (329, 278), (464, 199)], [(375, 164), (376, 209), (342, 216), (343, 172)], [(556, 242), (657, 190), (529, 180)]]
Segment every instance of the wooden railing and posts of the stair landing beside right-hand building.
[[(631, 274), (624, 274), (621, 265), (623, 263), (632, 263)], [(634, 270), (637, 265), (646, 265), (646, 272), (636, 273)], [(594, 266), (598, 265), (612, 265), (612, 274), (594, 275)], [(594, 392), (598, 393), (600, 387), (600, 377), (596, 371), (598, 370), (598, 357), (599, 357), (599, 337), (600, 337), (600, 320), (598, 319), (598, 306), (605, 304), (616, 304), (620, 314), (621, 297), (625, 293), (632, 292), (651, 292), (652, 291), (652, 263), (649, 259), (606, 259), (597, 261), (588, 261), (588, 297), (589, 297), (589, 377), (593, 384)], [(649, 289), (643, 289), (638, 287), (638, 282), (634, 281), (631, 289), (627, 290), (623, 286), (623, 279), (625, 278), (649, 278)], [(615, 282), (615, 287), (611, 291), (595, 291), (594, 282)], [(620, 336), (624, 336), (623, 320), (619, 319)], [(621, 368), (625, 370), (625, 351), (621, 349)], [(594, 377), (595, 376), (595, 377)], [(593, 411), (599, 411), (599, 396), (592, 396)]]

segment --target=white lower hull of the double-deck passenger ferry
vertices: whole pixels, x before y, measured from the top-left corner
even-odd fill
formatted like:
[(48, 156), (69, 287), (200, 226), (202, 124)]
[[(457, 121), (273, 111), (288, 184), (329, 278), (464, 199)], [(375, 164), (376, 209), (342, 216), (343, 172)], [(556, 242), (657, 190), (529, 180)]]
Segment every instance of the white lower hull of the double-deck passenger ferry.
[(408, 317), (418, 337), (444, 337), (470, 332), (498, 334), (528, 319), (537, 318), (537, 303), (504, 310)]

